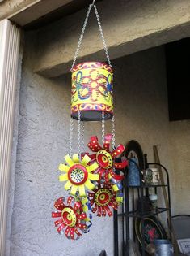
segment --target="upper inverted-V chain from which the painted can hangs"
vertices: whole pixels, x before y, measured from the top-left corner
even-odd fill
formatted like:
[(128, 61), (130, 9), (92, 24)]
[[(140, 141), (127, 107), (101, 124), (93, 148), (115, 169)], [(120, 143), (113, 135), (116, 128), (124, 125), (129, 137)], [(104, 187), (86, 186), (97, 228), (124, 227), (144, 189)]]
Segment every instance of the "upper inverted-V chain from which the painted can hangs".
[(109, 54), (108, 54), (108, 47), (106, 45), (106, 41), (105, 41), (104, 34), (103, 34), (103, 29), (102, 29), (102, 26), (101, 26), (101, 23), (100, 23), (100, 20), (99, 20), (99, 13), (98, 13), (97, 7), (95, 6), (94, 1), (93, 1), (93, 3), (90, 4), (89, 7), (88, 7), (87, 16), (84, 20), (84, 24), (83, 24), (83, 27), (82, 27), (82, 32), (81, 32), (81, 35), (80, 35), (79, 40), (78, 40), (77, 50), (75, 51), (75, 54), (74, 54), (74, 61), (72, 63), (72, 67), (70, 69), (71, 72), (74, 68), (74, 65), (75, 65), (77, 57), (78, 57), (78, 52), (79, 52), (79, 50), (81, 48), (81, 45), (82, 45), (82, 39), (84, 37), (85, 29), (87, 27), (88, 18), (89, 18), (89, 15), (91, 13), (91, 7), (95, 8), (95, 15), (96, 15), (96, 19), (97, 19), (97, 22), (98, 22), (98, 25), (99, 25), (99, 32), (100, 32), (100, 35), (101, 35), (102, 41), (103, 41), (103, 48), (105, 50), (106, 57), (108, 59), (108, 64), (109, 64), (110, 67), (112, 67), (112, 64), (111, 64), (111, 61), (110, 61), (110, 58), (109, 58)]

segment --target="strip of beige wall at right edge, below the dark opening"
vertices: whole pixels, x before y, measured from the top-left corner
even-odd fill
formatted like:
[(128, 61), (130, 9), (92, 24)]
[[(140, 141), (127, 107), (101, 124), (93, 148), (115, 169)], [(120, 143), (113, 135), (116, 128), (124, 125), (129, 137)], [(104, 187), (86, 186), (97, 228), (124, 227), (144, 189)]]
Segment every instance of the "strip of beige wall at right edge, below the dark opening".
[(190, 214), (190, 120), (170, 123), (175, 215)]

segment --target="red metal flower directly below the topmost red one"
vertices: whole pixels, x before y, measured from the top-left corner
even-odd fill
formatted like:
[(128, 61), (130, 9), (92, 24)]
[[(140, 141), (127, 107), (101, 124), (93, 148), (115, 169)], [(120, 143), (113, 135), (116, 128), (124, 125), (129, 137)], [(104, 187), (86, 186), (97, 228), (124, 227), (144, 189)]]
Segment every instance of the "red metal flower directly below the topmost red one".
[(91, 203), (91, 211), (97, 213), (97, 216), (112, 216), (112, 209), (117, 210), (119, 202), (117, 202), (116, 192), (112, 190), (111, 184), (99, 184), (97, 189), (88, 193)]

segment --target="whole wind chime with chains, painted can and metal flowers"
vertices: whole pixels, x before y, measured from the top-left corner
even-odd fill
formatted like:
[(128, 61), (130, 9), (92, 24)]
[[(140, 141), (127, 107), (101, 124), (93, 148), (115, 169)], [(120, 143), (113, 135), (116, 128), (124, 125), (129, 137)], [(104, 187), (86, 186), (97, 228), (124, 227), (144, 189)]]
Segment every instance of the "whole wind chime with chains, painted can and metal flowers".
[[(103, 40), (108, 64), (101, 62), (76, 63), (78, 51), (87, 26), (87, 21), (94, 8)], [(99, 217), (112, 216), (112, 209), (117, 210), (123, 202), (121, 192), (123, 175), (116, 174), (116, 169), (127, 166), (127, 160), (118, 158), (125, 150), (124, 145), (115, 146), (115, 119), (113, 115), (113, 73), (108, 48), (103, 36), (95, 0), (90, 4), (83, 24), (82, 33), (72, 64), (70, 152), (60, 163), (59, 180), (69, 192), (69, 197), (60, 197), (54, 203), (57, 209), (52, 213), (57, 218), (57, 232), (69, 239), (78, 239), (91, 227), (92, 213)], [(74, 119), (77, 119), (77, 152), (73, 152)], [(112, 119), (112, 133), (105, 134), (105, 121)], [(87, 144), (91, 153), (84, 149), (84, 122), (102, 123), (102, 145), (96, 136)]]

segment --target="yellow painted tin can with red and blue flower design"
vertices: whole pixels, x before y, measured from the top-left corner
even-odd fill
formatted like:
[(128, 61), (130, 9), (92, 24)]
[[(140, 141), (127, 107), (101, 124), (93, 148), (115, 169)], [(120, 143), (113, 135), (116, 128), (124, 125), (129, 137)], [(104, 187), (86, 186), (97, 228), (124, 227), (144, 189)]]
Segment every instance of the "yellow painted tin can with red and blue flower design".
[(71, 116), (83, 121), (111, 119), (113, 115), (112, 67), (106, 63), (79, 63), (72, 69)]

